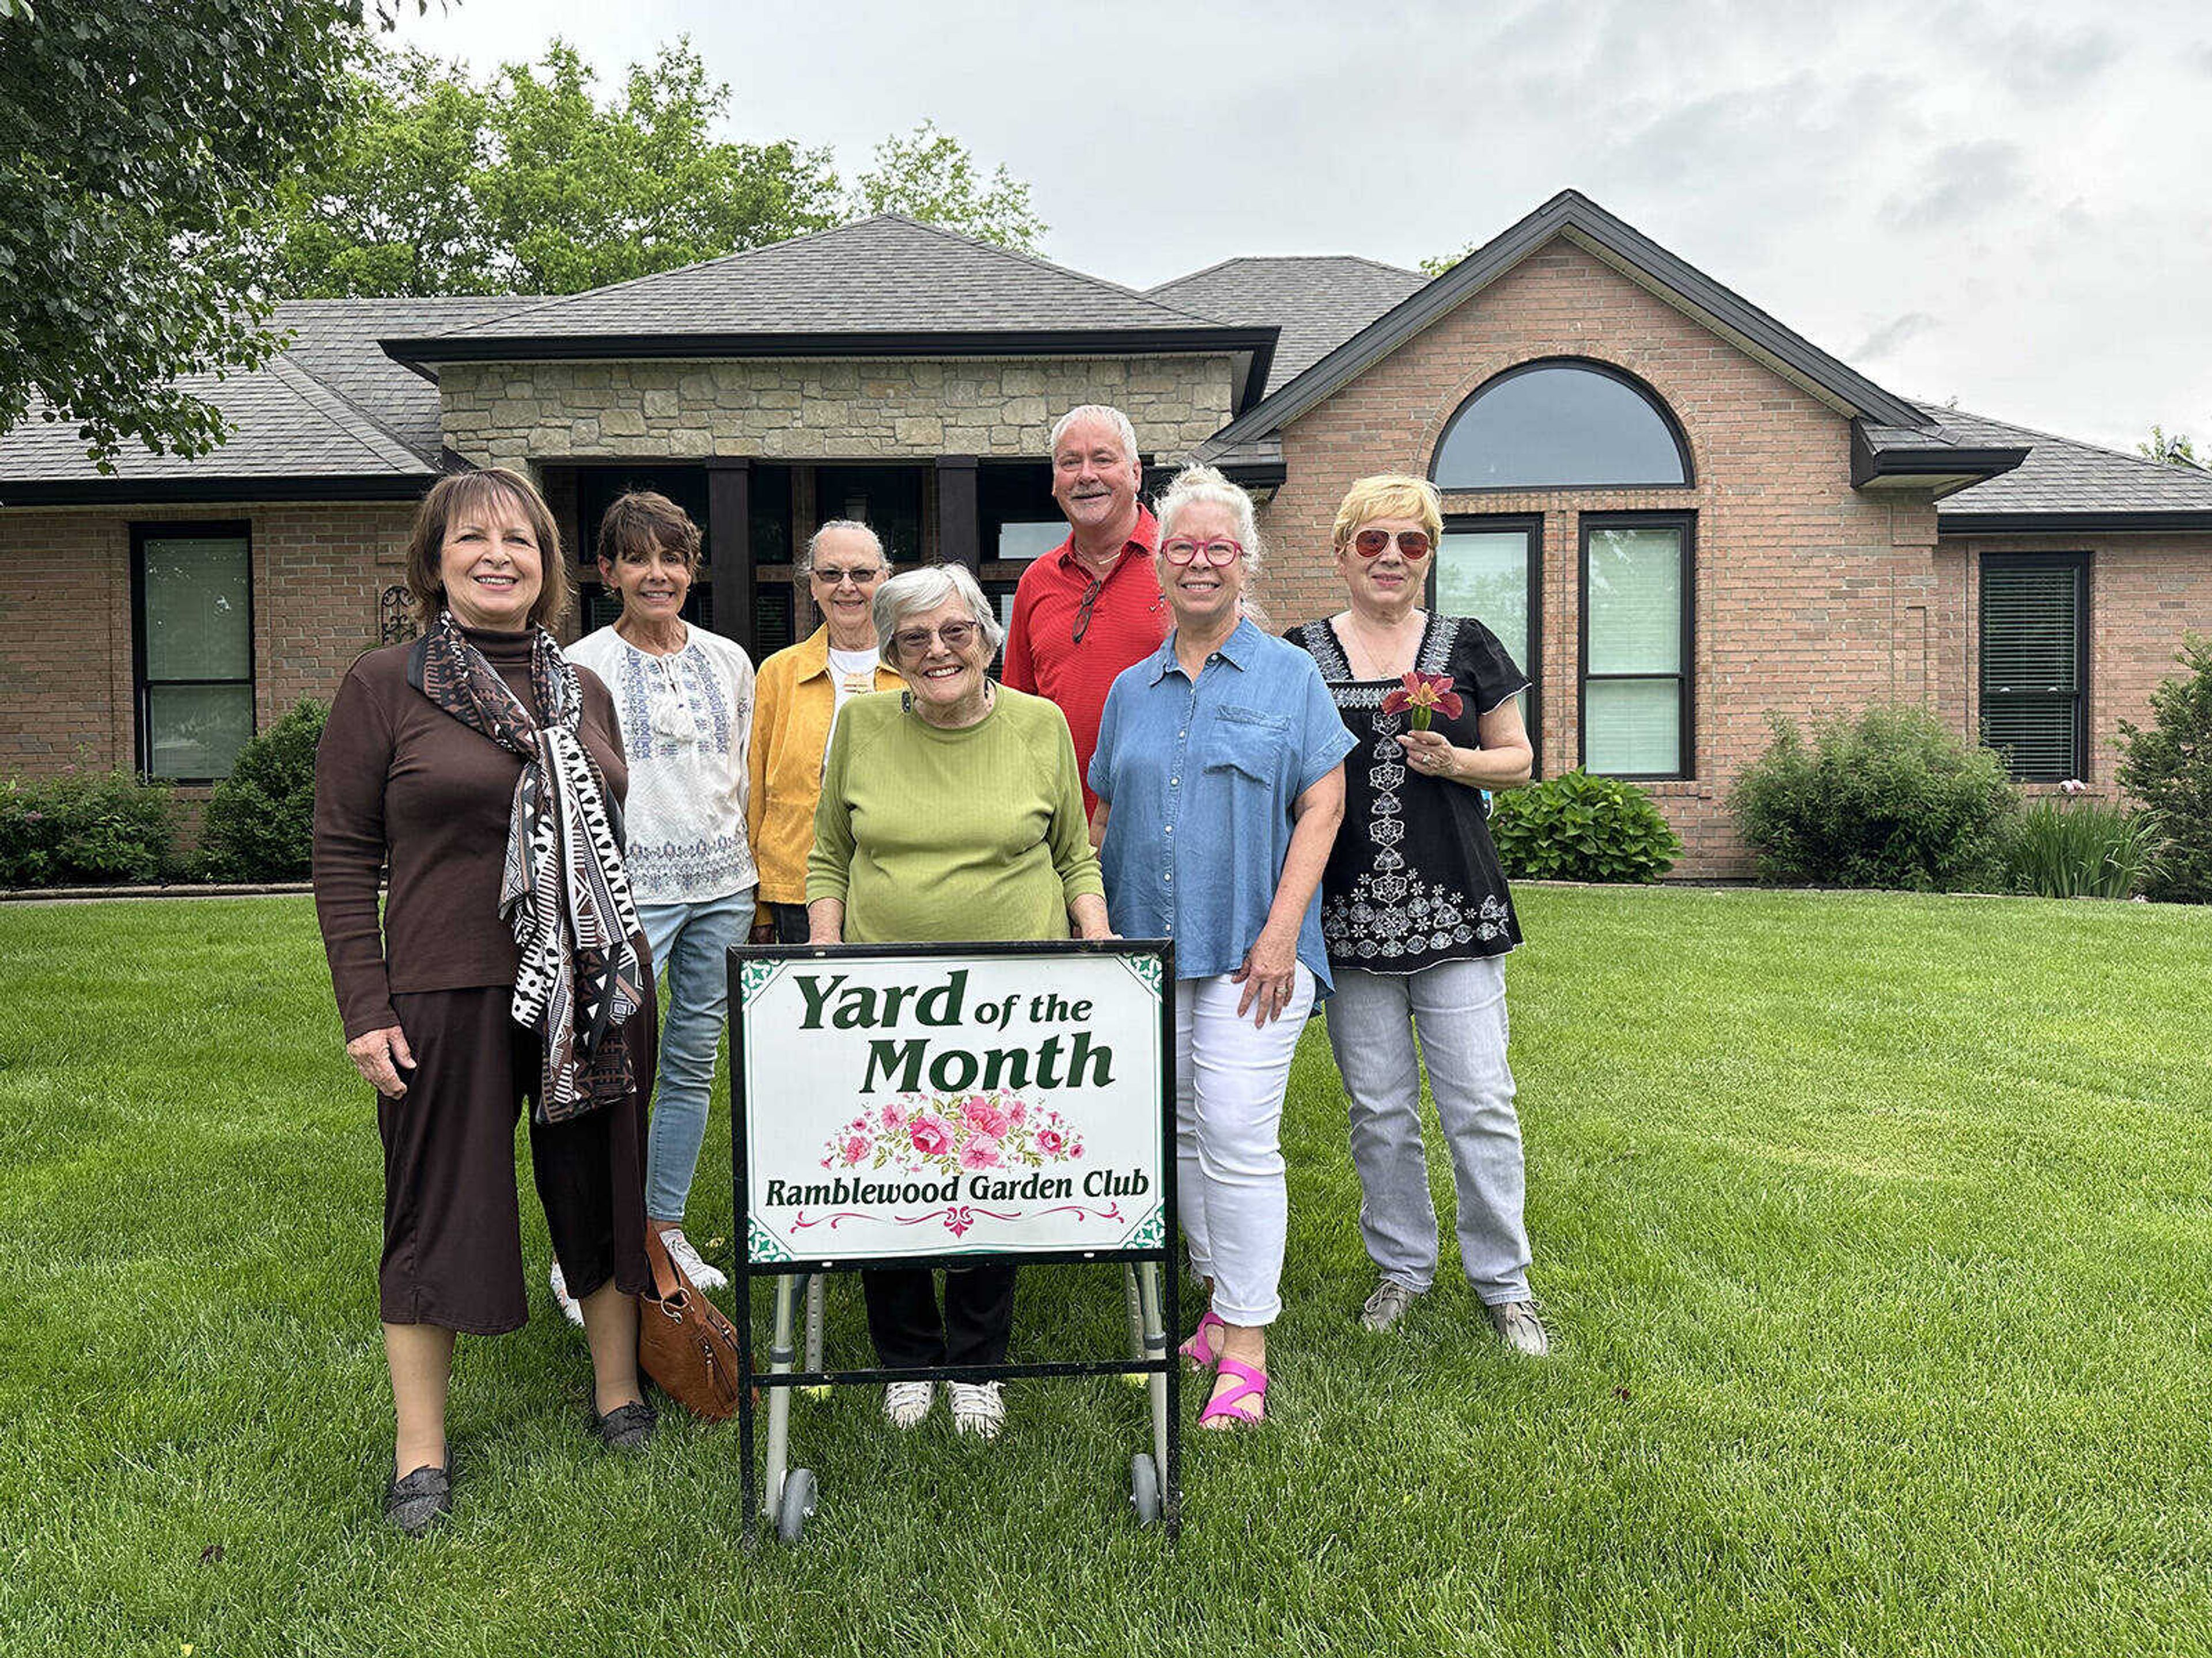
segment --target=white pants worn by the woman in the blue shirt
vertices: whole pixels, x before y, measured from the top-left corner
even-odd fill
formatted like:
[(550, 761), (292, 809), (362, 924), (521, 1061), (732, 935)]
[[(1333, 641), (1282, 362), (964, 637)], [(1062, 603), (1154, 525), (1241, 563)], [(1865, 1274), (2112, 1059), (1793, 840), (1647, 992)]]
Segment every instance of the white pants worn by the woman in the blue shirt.
[(1283, 1017), (1237, 1017), (1225, 973), (1175, 984), (1175, 1178), (1190, 1271), (1214, 1282), (1214, 1315), (1272, 1324), (1283, 1311), (1283, 1090), (1314, 1006), (1305, 966)]

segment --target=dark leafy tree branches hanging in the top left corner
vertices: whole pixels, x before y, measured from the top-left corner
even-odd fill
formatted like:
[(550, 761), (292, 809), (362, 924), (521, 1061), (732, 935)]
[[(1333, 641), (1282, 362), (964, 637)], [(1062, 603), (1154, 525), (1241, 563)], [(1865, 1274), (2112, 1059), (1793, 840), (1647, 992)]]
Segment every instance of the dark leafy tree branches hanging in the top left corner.
[(175, 382), (276, 349), (239, 228), (330, 141), (365, 38), (358, 0), (0, 7), (0, 431), (38, 405), (102, 471), (221, 442)]

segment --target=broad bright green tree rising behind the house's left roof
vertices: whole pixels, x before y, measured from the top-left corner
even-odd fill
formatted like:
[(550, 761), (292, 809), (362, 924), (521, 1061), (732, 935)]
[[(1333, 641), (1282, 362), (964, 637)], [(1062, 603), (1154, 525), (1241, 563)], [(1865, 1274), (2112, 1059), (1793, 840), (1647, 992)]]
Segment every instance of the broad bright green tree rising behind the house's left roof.
[(728, 111), (690, 40), (606, 99), (562, 40), (484, 82), (385, 53), (263, 234), (296, 296), (573, 294), (834, 223), (830, 153), (719, 141)]

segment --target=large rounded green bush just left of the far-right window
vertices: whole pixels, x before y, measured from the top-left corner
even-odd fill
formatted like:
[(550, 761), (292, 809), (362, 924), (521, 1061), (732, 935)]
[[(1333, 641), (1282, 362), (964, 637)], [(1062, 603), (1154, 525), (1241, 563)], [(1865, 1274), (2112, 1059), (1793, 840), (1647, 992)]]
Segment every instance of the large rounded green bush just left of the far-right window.
[(1823, 886), (1995, 891), (2020, 789), (1993, 749), (1924, 707), (1827, 718), (1812, 743), (1772, 718), (1774, 743), (1730, 809), (1759, 878)]

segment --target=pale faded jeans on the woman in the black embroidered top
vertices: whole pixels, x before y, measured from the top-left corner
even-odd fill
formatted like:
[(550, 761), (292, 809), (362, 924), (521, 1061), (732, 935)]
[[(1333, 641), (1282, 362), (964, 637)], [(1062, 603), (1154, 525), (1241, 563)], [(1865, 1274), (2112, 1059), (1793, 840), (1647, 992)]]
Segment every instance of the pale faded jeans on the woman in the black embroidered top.
[(1407, 1289), (1436, 1282), (1418, 1032), (1460, 1196), (1460, 1267), (1484, 1307), (1528, 1300), (1526, 1169), (1506, 1068), (1504, 957), (1438, 962), (1420, 973), (1340, 966), (1334, 979), (1329, 1048), (1352, 1099), (1367, 1258)]

